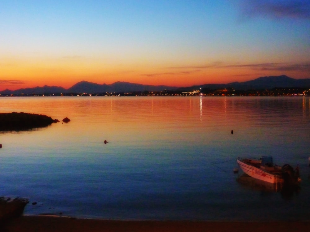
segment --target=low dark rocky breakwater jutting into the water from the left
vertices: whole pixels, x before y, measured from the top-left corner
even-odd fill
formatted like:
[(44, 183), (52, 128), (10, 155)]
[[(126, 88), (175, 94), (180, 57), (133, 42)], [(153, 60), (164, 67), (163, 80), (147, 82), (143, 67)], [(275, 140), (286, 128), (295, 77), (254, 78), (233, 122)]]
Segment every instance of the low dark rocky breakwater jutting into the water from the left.
[(29, 130), (38, 127), (47, 127), (54, 122), (59, 122), (57, 119), (52, 119), (43, 114), (29, 113), (0, 113), (0, 131), (20, 131)]

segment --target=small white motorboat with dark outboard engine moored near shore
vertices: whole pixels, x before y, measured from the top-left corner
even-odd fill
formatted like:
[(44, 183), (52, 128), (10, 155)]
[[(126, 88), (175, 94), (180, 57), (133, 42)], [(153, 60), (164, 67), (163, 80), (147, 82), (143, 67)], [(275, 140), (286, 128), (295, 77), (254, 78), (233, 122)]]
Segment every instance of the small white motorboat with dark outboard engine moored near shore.
[(272, 156), (262, 156), (260, 159), (238, 157), (237, 163), (245, 174), (268, 183), (297, 184), (300, 182), (299, 173), (295, 172), (292, 166), (275, 165)]

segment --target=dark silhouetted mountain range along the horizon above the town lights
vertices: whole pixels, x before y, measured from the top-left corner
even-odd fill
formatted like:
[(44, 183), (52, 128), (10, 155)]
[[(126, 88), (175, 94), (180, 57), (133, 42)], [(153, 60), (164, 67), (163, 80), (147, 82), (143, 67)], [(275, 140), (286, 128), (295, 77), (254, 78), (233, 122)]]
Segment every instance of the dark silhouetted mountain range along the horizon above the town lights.
[(3, 90), (0, 94), (60, 94), (60, 93), (91, 93), (100, 94), (105, 92), (144, 92), (144, 91), (190, 91), (197, 88), (220, 89), (234, 88), (236, 90), (249, 89), (272, 89), (272, 88), (310, 88), (310, 79), (294, 79), (286, 75), (265, 76), (245, 82), (232, 82), (228, 84), (203, 84), (190, 87), (173, 87), (165, 85), (144, 85), (129, 82), (115, 82), (113, 84), (96, 84), (88, 81), (81, 81), (72, 87), (65, 89), (59, 86), (43, 86), (34, 88), (22, 88), (17, 90)]

